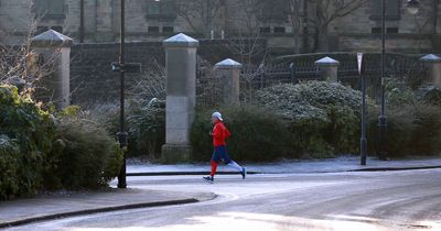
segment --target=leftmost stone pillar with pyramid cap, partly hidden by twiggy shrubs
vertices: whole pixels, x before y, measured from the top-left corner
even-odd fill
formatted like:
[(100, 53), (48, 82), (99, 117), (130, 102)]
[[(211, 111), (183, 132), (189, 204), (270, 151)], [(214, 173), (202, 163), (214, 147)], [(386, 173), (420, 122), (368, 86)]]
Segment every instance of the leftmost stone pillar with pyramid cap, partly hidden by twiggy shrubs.
[[(37, 92), (43, 101), (53, 101), (58, 109), (69, 106), (71, 95), (71, 46), (73, 40), (54, 30), (31, 38), (33, 52), (43, 57), (44, 64), (52, 64), (52, 74), (42, 79), (46, 90)], [(51, 66), (51, 65), (49, 65)]]

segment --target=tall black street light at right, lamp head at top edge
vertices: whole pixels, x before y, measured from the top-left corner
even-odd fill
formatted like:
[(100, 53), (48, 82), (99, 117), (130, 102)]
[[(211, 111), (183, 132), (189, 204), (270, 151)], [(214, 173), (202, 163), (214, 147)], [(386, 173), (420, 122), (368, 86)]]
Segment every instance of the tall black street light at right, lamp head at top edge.
[[(416, 14), (419, 11), (419, 0), (407, 0), (407, 10), (411, 14)], [(379, 151), (378, 158), (387, 160), (386, 150), (386, 130), (387, 130), (387, 117), (386, 117), (386, 103), (385, 103), (385, 40), (386, 38), (386, 0), (381, 0), (381, 110), (378, 117), (379, 127)]]

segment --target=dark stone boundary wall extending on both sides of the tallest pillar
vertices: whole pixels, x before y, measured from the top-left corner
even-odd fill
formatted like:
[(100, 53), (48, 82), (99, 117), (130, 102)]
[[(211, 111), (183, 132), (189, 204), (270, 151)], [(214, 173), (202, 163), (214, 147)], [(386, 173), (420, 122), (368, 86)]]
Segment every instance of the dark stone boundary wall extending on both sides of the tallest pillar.
[[(237, 58), (229, 47), (232, 41), (200, 41), (197, 55), (200, 61), (216, 64), (225, 58)], [(266, 44), (261, 41), (261, 46)], [(126, 62), (142, 64), (141, 74), (128, 74), (126, 84), (128, 91), (148, 75), (149, 67), (164, 66), (165, 51), (160, 42), (127, 43)], [(112, 73), (111, 62), (118, 62), (119, 44), (76, 44), (71, 52), (71, 89), (72, 103), (89, 105), (94, 102), (114, 101), (119, 97), (120, 79)]]

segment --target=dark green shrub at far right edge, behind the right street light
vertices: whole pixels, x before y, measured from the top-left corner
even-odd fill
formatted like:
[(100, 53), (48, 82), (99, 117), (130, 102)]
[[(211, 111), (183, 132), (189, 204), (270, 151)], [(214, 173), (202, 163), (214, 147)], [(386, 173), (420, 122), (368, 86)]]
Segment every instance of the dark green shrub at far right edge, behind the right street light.
[[(368, 146), (378, 148), (378, 109), (369, 113)], [(388, 108), (386, 146), (390, 157), (439, 155), (441, 153), (441, 108), (415, 102)]]

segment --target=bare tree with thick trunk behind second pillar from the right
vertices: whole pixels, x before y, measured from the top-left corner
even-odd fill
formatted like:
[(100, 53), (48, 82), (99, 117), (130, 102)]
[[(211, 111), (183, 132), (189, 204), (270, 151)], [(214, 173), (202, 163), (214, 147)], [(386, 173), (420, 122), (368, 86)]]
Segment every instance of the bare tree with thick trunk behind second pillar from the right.
[(313, 8), (311, 22), (315, 24), (318, 31), (319, 51), (329, 51), (329, 28), (334, 20), (344, 18), (368, 0), (308, 0)]

